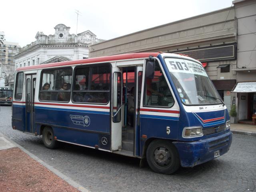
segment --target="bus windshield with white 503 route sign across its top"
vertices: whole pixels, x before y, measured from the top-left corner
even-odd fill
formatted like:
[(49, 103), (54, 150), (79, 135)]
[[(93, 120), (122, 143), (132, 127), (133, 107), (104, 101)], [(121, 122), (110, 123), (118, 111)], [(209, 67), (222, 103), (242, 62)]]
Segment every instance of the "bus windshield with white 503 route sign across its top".
[(178, 58), (165, 58), (165, 62), (180, 99), (185, 105), (222, 103), (201, 64)]

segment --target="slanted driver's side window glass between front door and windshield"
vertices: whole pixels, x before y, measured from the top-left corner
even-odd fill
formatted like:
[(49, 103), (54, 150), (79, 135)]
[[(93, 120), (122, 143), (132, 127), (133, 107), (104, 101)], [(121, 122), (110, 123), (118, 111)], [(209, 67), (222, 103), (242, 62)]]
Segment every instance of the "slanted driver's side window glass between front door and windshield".
[(157, 61), (154, 78), (145, 79), (144, 90), (144, 106), (172, 107), (174, 105), (174, 98)]

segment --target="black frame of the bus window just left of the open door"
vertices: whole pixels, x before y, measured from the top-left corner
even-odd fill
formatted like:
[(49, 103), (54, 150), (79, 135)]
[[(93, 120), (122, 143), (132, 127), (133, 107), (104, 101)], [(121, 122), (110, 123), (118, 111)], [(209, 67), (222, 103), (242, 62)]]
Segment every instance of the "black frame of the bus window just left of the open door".
[[(109, 86), (109, 90), (108, 91), (94, 91), (94, 90), (74, 90), (75, 87), (75, 78), (76, 78), (76, 70), (78, 70), (79, 68), (85, 68), (85, 67), (98, 67), (98, 66), (109, 66), (110, 67), (110, 86)], [(111, 85), (112, 85), (112, 64), (110, 62), (107, 63), (97, 63), (97, 64), (86, 64), (86, 65), (82, 65), (82, 66), (75, 66), (74, 70), (73, 70), (73, 78), (72, 78), (72, 90), (71, 90), (71, 101), (72, 103), (78, 103), (78, 104), (97, 104), (97, 105), (107, 105), (110, 103), (111, 100)], [(74, 92), (108, 92), (109, 93), (109, 98), (108, 98), (108, 102), (106, 103), (94, 103), (94, 102), (75, 102), (73, 100), (73, 94)]]

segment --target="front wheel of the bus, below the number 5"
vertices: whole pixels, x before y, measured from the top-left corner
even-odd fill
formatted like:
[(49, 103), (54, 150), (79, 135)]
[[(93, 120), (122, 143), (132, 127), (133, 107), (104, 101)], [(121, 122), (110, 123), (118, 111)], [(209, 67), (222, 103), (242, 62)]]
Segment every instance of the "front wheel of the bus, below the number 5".
[(150, 168), (157, 173), (172, 174), (180, 167), (180, 158), (176, 147), (168, 141), (152, 141), (146, 152)]

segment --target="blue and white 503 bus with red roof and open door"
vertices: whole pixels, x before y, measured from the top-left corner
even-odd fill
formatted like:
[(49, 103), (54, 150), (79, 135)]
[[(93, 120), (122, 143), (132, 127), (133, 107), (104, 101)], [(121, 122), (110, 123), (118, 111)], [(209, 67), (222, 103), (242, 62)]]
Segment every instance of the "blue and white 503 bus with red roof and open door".
[(134, 53), (18, 68), (12, 128), (147, 160), (158, 173), (228, 152), (230, 117), (197, 60)]

